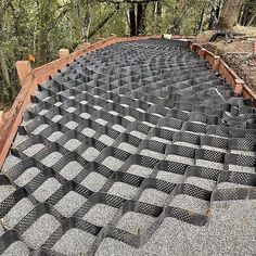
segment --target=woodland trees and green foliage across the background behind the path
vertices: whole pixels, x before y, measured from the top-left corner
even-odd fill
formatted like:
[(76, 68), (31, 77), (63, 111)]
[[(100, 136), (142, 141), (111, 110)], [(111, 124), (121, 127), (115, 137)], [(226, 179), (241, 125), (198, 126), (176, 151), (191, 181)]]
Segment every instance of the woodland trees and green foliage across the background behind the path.
[(15, 97), (14, 63), (29, 55), (38, 66), (56, 59), (61, 48), (74, 51), (111, 34), (193, 35), (236, 23), (256, 25), (255, 0), (1, 0), (0, 102)]

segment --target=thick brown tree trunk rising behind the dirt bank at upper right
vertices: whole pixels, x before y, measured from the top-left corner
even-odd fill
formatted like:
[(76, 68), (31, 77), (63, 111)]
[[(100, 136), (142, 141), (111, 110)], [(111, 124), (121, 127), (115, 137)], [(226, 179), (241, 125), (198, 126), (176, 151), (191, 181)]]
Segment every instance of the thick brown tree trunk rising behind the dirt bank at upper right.
[(232, 29), (238, 24), (243, 0), (226, 0), (219, 17), (219, 29)]

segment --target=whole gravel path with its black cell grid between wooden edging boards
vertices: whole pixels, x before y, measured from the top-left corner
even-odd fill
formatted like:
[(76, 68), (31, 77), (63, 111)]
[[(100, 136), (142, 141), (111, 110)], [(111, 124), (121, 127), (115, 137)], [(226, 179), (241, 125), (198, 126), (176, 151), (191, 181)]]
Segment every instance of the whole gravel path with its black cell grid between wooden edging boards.
[(185, 42), (78, 59), (24, 114), (0, 254), (254, 255), (255, 113)]

